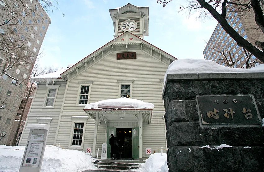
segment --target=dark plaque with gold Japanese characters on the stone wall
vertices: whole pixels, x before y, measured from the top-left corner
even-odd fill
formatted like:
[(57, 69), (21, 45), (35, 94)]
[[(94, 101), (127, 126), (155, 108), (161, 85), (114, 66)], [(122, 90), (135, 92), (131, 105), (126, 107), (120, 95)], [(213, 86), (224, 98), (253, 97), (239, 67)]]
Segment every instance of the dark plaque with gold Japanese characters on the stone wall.
[(202, 124), (260, 124), (252, 95), (197, 96)]

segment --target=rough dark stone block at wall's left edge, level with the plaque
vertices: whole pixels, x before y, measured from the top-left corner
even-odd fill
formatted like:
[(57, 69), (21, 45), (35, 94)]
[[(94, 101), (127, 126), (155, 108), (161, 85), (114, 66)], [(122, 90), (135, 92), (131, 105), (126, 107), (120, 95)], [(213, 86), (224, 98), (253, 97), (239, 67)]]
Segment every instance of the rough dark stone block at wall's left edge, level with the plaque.
[(175, 121), (188, 121), (185, 112), (185, 102), (183, 100), (172, 100), (166, 109), (166, 116), (168, 126), (171, 126)]

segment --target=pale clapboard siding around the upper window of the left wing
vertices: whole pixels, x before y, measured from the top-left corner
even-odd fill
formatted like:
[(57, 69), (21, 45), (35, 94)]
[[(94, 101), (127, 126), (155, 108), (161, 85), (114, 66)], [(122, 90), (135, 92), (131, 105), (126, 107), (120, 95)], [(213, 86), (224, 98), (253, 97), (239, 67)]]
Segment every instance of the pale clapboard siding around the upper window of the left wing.
[(60, 113), (62, 101), (66, 89), (66, 82), (56, 82), (55, 85), (60, 84), (59, 89), (57, 90), (56, 101), (54, 102), (54, 108), (42, 108), (44, 101), (46, 100), (46, 94), (48, 91), (48, 87), (46, 87), (45, 83), (38, 84), (38, 89), (35, 92), (34, 101), (31, 104), (30, 113)]

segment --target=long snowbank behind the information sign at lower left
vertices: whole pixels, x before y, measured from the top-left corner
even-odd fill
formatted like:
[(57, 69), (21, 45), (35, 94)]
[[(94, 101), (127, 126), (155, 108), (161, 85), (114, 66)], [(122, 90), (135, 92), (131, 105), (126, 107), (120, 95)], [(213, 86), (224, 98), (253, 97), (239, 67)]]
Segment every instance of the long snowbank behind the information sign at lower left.
[[(25, 146), (0, 145), (0, 171), (18, 171)], [(43, 172), (80, 172), (97, 169), (90, 155), (70, 149), (59, 149), (46, 145), (41, 171)]]

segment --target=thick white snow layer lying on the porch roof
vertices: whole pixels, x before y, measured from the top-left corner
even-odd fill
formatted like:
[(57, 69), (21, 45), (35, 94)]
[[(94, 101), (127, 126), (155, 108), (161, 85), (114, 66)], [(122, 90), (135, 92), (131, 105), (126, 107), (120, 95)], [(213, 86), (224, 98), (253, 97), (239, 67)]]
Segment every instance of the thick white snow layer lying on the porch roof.
[(137, 99), (129, 99), (126, 97), (121, 97), (119, 99), (107, 99), (96, 103), (87, 104), (84, 110), (87, 109), (98, 109), (98, 108), (138, 108), (138, 109), (153, 109), (154, 104), (145, 103)]

